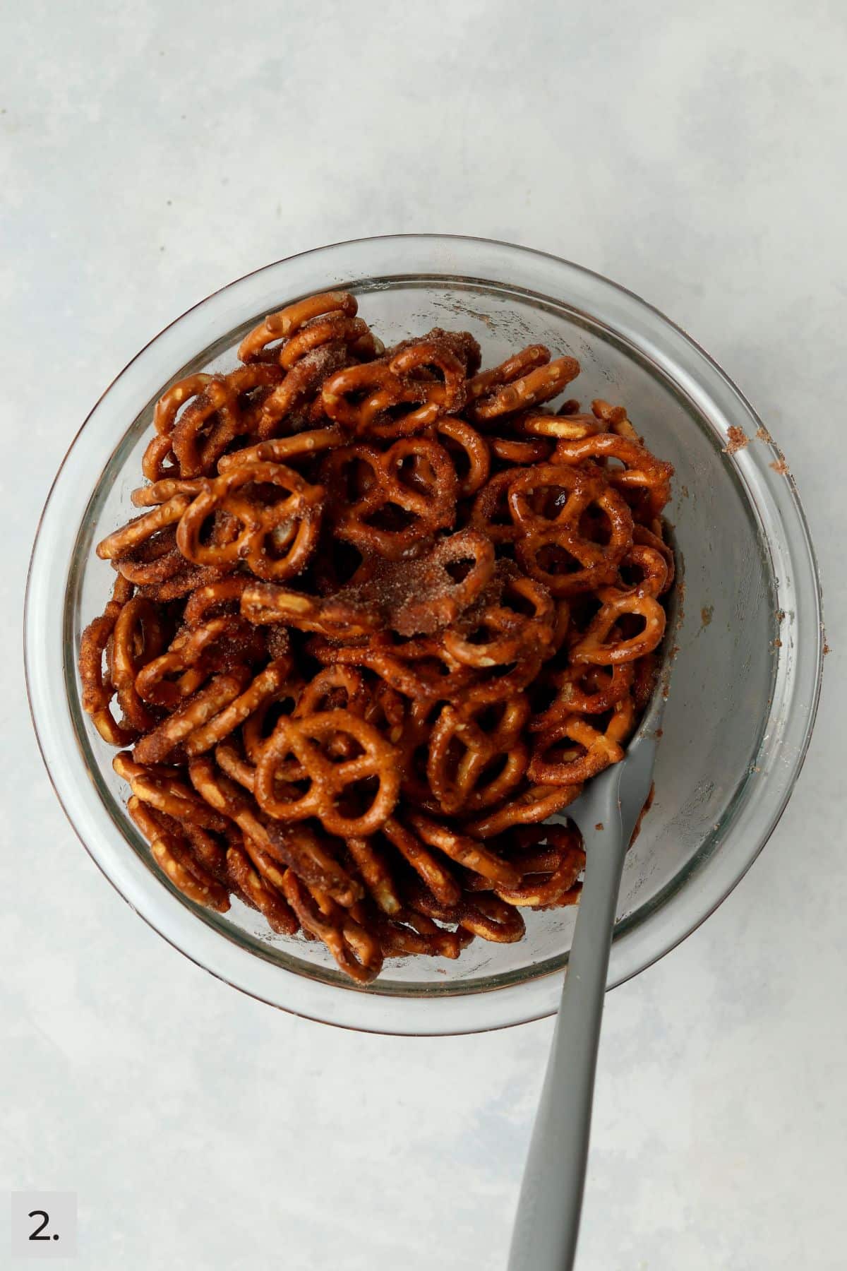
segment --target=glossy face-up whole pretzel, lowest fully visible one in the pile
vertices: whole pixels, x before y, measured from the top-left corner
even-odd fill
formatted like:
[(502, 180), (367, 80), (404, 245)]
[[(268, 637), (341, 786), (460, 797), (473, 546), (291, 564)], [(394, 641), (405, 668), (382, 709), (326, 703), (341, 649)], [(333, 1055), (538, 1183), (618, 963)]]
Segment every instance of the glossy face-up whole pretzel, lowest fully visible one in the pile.
[[(335, 733), (348, 733), (362, 747), (356, 759), (334, 764), (321, 749)], [(274, 777), (281, 761), (293, 756), (309, 779), (303, 794), (278, 798)], [(342, 796), (349, 787), (376, 778), (377, 789), (364, 812), (347, 813)], [(316, 816), (331, 833), (367, 835), (385, 824), (397, 799), (396, 750), (371, 724), (350, 710), (324, 710), (305, 719), (281, 719), (257, 764), (255, 797), (268, 815), (282, 821)]]

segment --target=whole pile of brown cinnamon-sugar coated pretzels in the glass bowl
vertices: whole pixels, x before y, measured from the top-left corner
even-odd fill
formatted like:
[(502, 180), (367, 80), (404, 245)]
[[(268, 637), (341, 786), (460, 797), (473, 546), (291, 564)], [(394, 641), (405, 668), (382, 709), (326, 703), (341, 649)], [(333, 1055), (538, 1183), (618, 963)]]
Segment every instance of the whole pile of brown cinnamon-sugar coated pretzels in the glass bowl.
[(573, 357), (386, 350), (347, 292), (239, 358), (163, 395), (140, 515), (97, 548), (83, 705), (130, 815), (189, 900), (236, 896), (359, 982), (517, 941), (578, 900), (579, 833), (544, 822), (653, 689), (672, 468), (621, 407), (549, 405)]

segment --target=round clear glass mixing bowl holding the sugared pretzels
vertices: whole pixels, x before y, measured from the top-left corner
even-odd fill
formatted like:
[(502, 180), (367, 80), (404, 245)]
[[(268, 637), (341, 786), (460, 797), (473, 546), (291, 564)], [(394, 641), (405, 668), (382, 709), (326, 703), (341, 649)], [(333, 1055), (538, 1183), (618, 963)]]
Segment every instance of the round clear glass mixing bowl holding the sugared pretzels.
[(764, 845), (803, 764), (823, 652), (814, 553), (791, 477), (738, 389), (655, 309), (575, 264), (480, 239), (363, 239), (279, 261), (196, 305), (122, 371), (56, 477), (33, 550), (25, 652), (42, 754), (74, 829), (121, 895), (236, 988), (370, 1031), (535, 1019), (557, 1005), (573, 910), (528, 911), (521, 943), (477, 939), (456, 962), (391, 960), (357, 988), (320, 943), (272, 934), (237, 901), (225, 916), (199, 910), (163, 878), (126, 812), (113, 751), (80, 708), (80, 632), (113, 578), (94, 544), (135, 512), (130, 492), (156, 398), (189, 372), (231, 367), (264, 314), (328, 287), (352, 291), (386, 343), (441, 325), (471, 330), (488, 365), (531, 342), (574, 355), (583, 370), (569, 394), (625, 403), (676, 468), (668, 517), (683, 616), (655, 799), (627, 857), (608, 985), (693, 930)]

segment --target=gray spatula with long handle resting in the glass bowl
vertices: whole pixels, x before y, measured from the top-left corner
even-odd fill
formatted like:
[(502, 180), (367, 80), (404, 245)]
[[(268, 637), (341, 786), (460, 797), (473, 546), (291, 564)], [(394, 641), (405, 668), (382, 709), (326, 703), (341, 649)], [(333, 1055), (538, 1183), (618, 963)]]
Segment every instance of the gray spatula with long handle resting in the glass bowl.
[(509, 1271), (570, 1271), (574, 1265), (617, 894), (626, 848), (650, 793), (668, 674), (665, 660), (625, 758), (590, 780), (568, 808), (585, 843), (585, 880), (523, 1173)]

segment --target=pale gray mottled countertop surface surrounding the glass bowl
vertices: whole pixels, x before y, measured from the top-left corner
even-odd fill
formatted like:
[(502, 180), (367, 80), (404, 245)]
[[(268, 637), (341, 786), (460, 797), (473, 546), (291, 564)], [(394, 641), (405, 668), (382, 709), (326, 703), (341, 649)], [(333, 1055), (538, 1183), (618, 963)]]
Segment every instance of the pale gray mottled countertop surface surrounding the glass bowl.
[(268, 261), (441, 230), (598, 269), (717, 358), (833, 644), (764, 854), (607, 1002), (580, 1271), (843, 1268), (843, 6), (42, 0), (0, 44), (0, 1188), (76, 1191), (93, 1271), (505, 1265), (550, 1022), (358, 1036), (198, 970), (65, 822), (19, 652), (47, 488), (132, 355)]

